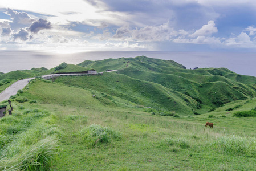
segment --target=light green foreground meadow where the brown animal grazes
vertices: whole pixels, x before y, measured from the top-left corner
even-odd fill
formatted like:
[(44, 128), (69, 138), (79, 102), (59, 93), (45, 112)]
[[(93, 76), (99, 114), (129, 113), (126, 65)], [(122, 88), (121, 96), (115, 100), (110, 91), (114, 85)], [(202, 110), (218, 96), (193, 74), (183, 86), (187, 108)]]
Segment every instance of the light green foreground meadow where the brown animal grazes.
[[(253, 170), (256, 167), (255, 117), (232, 117), (233, 111), (229, 114), (225, 111), (237, 104), (210, 112), (213, 115), (210, 118), (209, 113), (173, 117), (122, 105), (127, 102), (114, 96), (110, 101), (100, 93), (93, 98), (93, 93), (97, 92), (42, 80), (31, 83), (19, 94), (28, 101), (13, 101), (16, 114), (0, 120), (3, 166), (0, 170), (5, 166), (12, 170), (13, 165), (17, 165), (17, 170)], [(35, 100), (37, 103), (29, 103)], [(240, 103), (243, 106), (251, 103), (248, 108), (254, 104)], [(206, 121), (214, 123), (213, 129), (204, 127)], [(50, 141), (54, 144), (45, 143)], [(46, 154), (50, 154), (47, 164), (37, 157)]]

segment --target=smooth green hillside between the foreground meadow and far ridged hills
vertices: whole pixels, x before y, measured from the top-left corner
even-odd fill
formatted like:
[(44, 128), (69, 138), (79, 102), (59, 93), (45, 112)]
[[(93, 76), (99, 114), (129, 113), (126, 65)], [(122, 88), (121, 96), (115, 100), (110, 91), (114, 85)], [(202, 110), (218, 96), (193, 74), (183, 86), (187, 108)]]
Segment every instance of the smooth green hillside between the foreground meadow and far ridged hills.
[(184, 115), (191, 114), (192, 107), (196, 108), (198, 105), (198, 102), (191, 97), (160, 84), (115, 73), (105, 73), (98, 76), (61, 76), (52, 80), (57, 83), (94, 89), (144, 107), (163, 108)]

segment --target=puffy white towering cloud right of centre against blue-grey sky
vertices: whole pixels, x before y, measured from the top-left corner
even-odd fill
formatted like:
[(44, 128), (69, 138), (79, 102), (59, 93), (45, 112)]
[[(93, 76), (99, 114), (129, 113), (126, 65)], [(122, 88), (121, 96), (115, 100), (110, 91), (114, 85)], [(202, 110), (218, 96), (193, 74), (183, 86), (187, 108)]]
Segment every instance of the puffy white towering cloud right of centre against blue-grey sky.
[(193, 34), (190, 34), (189, 36), (194, 38), (197, 36), (212, 35), (214, 32), (218, 32), (218, 28), (215, 27), (214, 21), (211, 20), (207, 25), (202, 26), (202, 28), (195, 31)]

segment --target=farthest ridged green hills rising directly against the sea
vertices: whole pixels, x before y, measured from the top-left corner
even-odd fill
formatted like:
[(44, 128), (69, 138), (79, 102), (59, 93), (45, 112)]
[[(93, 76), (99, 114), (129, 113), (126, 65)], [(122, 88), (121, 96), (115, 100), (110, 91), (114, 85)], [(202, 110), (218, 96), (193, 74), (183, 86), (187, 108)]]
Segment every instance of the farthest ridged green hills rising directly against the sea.
[[(189, 96), (194, 101), (197, 101), (197, 103), (193, 102), (193, 105), (189, 105), (192, 110), (197, 112), (199, 110), (201, 111), (200, 113), (231, 101), (245, 100), (256, 96), (255, 77), (238, 75), (227, 68), (187, 70), (184, 66), (172, 60), (152, 59), (145, 56), (105, 59), (94, 62), (86, 60), (78, 65), (94, 67), (99, 71), (119, 70), (117, 73), (127, 75), (129, 78), (160, 84), (169, 90), (180, 92), (186, 97)], [(105, 82), (103, 81), (102, 84), (105, 84)], [(111, 85), (109, 86), (111, 87)], [(112, 93), (123, 89), (115, 89)], [(133, 91), (138, 91), (139, 93), (140, 90), (141, 87), (138, 86)], [(105, 89), (102, 88), (102, 91), (105, 91)], [(157, 93), (150, 94), (152, 97), (157, 96)], [(178, 98), (180, 101), (184, 100), (184, 97)], [(164, 108), (166, 106), (161, 105)], [(168, 109), (175, 110), (174, 107), (170, 106)]]

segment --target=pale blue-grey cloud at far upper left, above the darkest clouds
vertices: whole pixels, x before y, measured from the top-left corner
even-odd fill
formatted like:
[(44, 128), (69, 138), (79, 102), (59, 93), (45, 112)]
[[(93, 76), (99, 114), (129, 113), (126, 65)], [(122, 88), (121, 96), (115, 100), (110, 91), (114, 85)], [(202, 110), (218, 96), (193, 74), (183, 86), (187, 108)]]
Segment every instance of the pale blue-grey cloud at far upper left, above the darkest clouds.
[(35, 21), (35, 19), (31, 18), (29, 14), (25, 12), (19, 13), (12, 9), (7, 9), (6, 14), (10, 15), (11, 19), (13, 19), (13, 22), (19, 25), (30, 25)]

